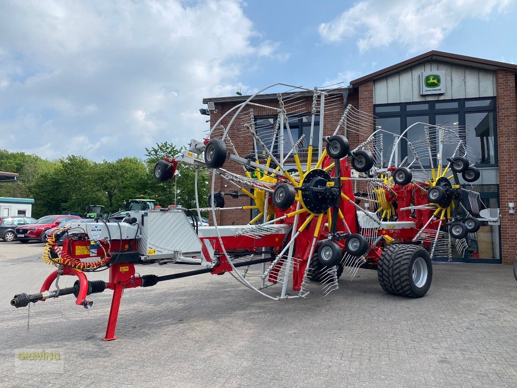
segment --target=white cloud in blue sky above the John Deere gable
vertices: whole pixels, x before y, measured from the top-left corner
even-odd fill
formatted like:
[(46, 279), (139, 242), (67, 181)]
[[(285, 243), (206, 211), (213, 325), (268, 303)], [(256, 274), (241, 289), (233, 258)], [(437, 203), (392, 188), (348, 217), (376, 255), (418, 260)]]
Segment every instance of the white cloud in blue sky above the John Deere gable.
[(486, 19), (511, 0), (364, 0), (323, 23), (326, 42), (357, 38), (360, 52), (401, 43), (410, 51), (432, 50), (464, 19)]

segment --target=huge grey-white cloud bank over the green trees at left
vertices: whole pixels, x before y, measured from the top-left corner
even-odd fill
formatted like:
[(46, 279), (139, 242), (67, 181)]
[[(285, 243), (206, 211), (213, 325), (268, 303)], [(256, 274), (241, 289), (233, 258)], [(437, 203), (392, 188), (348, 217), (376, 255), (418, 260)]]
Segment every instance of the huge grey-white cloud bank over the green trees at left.
[(50, 158), (142, 156), (207, 129), (202, 98), (285, 58), (238, 0), (8, 1), (0, 13), (0, 148)]

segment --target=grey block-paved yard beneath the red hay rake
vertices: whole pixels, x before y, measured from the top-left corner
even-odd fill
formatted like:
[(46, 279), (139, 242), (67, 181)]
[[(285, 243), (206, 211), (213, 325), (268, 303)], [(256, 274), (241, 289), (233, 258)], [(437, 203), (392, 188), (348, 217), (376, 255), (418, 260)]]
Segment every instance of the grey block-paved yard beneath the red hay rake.
[[(517, 386), (517, 282), (508, 266), (435, 265), (418, 300), (384, 293), (372, 271), (340, 279), (327, 297), (281, 303), (227, 274), (173, 280), (127, 290), (119, 339), (103, 342), (111, 292), (93, 295), (90, 310), (70, 296), (37, 303), (28, 333), (27, 308), (9, 305), (50, 273), (42, 247), (0, 243), (1, 386)], [(27, 372), (15, 365), (20, 349), (58, 350), (63, 372)]]

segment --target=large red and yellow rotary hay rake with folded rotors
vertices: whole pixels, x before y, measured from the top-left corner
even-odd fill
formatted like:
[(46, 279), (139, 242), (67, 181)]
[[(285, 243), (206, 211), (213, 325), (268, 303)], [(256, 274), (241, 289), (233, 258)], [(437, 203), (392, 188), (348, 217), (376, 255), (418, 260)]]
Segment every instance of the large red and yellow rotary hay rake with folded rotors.
[[(265, 105), (260, 94), (279, 88), (278, 103)], [(156, 163), (159, 182), (174, 176), (178, 162), (195, 166), (195, 209), (128, 212), (121, 222), (96, 219), (57, 231), (42, 255), (56, 270), (39, 293), (17, 294), (11, 305), (73, 294), (75, 304), (90, 308), (87, 295), (111, 289), (103, 339), (112, 340), (124, 289), (199, 274), (229, 273), (261, 296), (288, 300), (306, 297), (318, 283), (326, 295), (338, 288), (343, 273), (354, 278), (359, 268), (366, 268), (377, 271), (388, 293), (425, 295), (431, 286), (431, 259), (451, 256), (451, 237), (458, 250), (465, 249), (466, 234), (479, 228), (461, 203), (467, 192), (474, 209), (479, 195), (459, 182), (459, 174), (467, 182), (479, 178), (469, 162), (476, 156), (466, 146), (464, 129), (425, 124), (421, 140), (413, 142), (408, 133), (416, 127), (402, 135), (383, 129), (372, 133), (375, 118), (352, 106), (343, 112), (340, 98), (328, 89), (276, 84), (239, 103), (222, 115), (206, 139), (192, 140), (177, 160)], [(297, 138), (290, 122), (308, 107), (310, 114), (303, 115), (307, 130)], [(255, 118), (257, 108), (275, 118)], [(341, 119), (333, 135), (317, 135), (315, 128), (324, 128), (325, 114), (334, 111), (340, 111)], [(366, 140), (351, 149), (346, 137), (351, 133)], [(253, 141), (247, 155), (239, 155), (234, 145), (241, 137)], [(450, 144), (452, 156), (440, 157)], [(411, 157), (397, 162), (401, 145)], [(200, 169), (212, 171), (206, 208), (197, 198)], [(216, 181), (235, 190), (215, 191)], [(249, 198), (250, 205), (227, 206), (229, 197)], [(247, 225), (218, 225), (222, 212), (250, 211), (253, 219)], [(211, 213), (213, 226), (197, 225), (202, 212)], [(55, 241), (63, 234), (67, 238), (60, 248)], [(201, 268), (164, 276), (136, 273), (135, 265), (152, 263)], [(88, 272), (102, 270), (109, 271), (108, 282), (88, 280)], [(58, 287), (65, 275), (78, 278), (73, 287)], [(50, 291), (53, 283), (56, 289)]]

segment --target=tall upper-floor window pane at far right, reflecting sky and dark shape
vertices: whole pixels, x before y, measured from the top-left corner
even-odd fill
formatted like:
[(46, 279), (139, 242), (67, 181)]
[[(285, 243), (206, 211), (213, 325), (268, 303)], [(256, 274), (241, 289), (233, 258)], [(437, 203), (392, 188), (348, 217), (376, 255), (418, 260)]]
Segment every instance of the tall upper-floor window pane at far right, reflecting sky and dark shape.
[(467, 130), (467, 146), (473, 148), (477, 165), (495, 163), (494, 146), (494, 113), (475, 112), (465, 113)]

